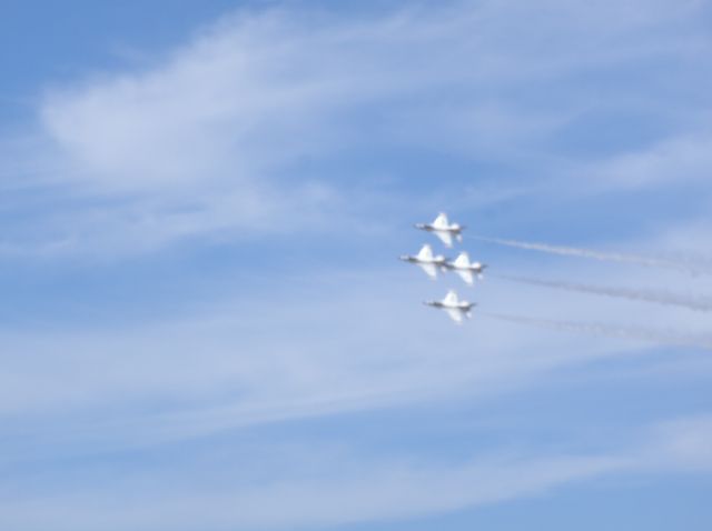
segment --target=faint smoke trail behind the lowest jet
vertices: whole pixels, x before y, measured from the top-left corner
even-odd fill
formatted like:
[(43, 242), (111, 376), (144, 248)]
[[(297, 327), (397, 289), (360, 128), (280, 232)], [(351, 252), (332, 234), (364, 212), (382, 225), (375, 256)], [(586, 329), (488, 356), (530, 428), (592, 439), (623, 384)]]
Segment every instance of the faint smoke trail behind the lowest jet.
[(528, 318), (522, 315), (511, 315), (506, 313), (490, 313), (483, 311), (478, 312), (478, 314), (488, 317), (491, 319), (497, 319), (500, 321), (528, 324), (532, 327), (557, 330), (562, 332), (585, 333), (589, 335), (600, 335), (605, 338), (634, 339), (657, 344), (694, 347), (699, 349), (712, 350), (712, 337), (709, 335), (680, 334), (676, 332), (664, 330), (620, 327), (616, 324), (555, 321), (551, 319)]

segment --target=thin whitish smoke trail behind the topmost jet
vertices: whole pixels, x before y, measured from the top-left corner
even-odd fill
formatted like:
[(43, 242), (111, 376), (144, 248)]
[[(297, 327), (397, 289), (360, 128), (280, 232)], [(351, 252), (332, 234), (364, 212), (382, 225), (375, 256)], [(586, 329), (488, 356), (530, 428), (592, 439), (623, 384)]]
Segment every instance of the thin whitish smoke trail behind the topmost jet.
[(701, 268), (700, 266), (686, 263), (676, 260), (665, 260), (659, 258), (639, 257), (635, 254), (622, 254), (617, 252), (601, 252), (591, 249), (580, 249), (576, 247), (561, 247), (550, 246), (548, 243), (534, 243), (516, 240), (504, 240), (501, 238), (487, 238), (484, 236), (471, 236), (471, 238), (488, 243), (496, 243), (498, 246), (514, 247), (517, 249), (527, 249), (531, 251), (542, 251), (552, 254), (563, 254), (567, 257), (581, 257), (590, 258), (593, 260), (601, 260), (604, 262), (623, 262), (634, 263), (637, 266), (646, 266), (649, 268), (663, 268), (674, 269), (676, 271), (683, 271), (691, 274), (710, 273), (709, 268)]

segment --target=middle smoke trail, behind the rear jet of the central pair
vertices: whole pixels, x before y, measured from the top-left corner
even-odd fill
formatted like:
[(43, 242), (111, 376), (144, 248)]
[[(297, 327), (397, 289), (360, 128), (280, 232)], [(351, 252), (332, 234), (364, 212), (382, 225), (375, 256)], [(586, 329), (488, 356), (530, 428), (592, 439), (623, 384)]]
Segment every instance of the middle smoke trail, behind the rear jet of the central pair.
[(668, 291), (632, 290), (627, 288), (607, 288), (604, 285), (580, 284), (574, 282), (557, 282), (554, 280), (533, 279), (527, 277), (514, 277), (508, 274), (491, 274), (497, 279), (523, 284), (541, 285), (564, 291), (575, 291), (578, 293), (591, 293), (594, 295), (613, 297), (616, 299), (627, 299), (633, 301), (653, 302), (655, 304), (666, 304), (688, 308), (695, 311), (712, 311), (712, 298), (690, 297)]

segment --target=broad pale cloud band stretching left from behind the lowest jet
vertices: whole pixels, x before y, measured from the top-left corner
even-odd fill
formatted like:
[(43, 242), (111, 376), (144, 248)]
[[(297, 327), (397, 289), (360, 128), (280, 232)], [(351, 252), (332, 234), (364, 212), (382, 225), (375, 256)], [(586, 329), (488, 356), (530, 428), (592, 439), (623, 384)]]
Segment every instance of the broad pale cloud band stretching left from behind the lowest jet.
[[(601, 278), (600, 269), (585, 266), (576, 277)], [(565, 271), (572, 274), (571, 268)], [(557, 275), (551, 267), (545, 273)], [(419, 274), (400, 268), (332, 272), (325, 281), (313, 273), (301, 278), (300, 289), (280, 284), (279, 295), (268, 299), (243, 292), (184, 319), (41, 338), (6, 332), (0, 412), (30, 427), (32, 438), (47, 440), (65, 439), (69, 430), (47, 423), (55, 414), (69, 427), (73, 419), (82, 423), (87, 414), (110, 410), (70, 435), (69, 448), (88, 441), (97, 449), (152, 444), (285, 419), (515, 392), (557, 368), (645, 353), (666, 331), (699, 342), (709, 330), (699, 312), (496, 279), (476, 287), (484, 314), (475, 312), (466, 327), (454, 327), (418, 304), (421, 298), (442, 297), (444, 289), (434, 284), (417, 294), (424, 288)], [(617, 268), (605, 278), (621, 285), (660, 279)], [(304, 287), (310, 287), (308, 297)], [(582, 330), (600, 322), (655, 332), (651, 342), (642, 333), (627, 340), (589, 338), (582, 330), (501, 323), (487, 312), (575, 321)]]

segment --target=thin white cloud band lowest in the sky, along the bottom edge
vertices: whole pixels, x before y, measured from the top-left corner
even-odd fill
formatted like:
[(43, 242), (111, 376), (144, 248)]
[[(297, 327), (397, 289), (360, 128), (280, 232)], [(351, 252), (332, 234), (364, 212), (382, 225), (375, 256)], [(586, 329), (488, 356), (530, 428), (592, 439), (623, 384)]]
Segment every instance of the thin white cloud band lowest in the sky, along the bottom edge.
[[(156, 480), (156, 470), (119, 472), (93, 492), (40, 494), (31, 500), (4, 501), (0, 523), (41, 529), (254, 529), (339, 525), (456, 511), (482, 504), (542, 495), (585, 480), (611, 474), (702, 472), (712, 467), (704, 443), (709, 417), (689, 417), (629, 429), (629, 443), (616, 450), (562, 452), (532, 457), (500, 452), (458, 462), (425, 465), (413, 460), (374, 461), (322, 448), (323, 458), (308, 477), (283, 470), (277, 481), (241, 473), (209, 487), (210, 495), (192, 493), (205, 481), (209, 460), (176, 463)], [(274, 445), (274, 444), (273, 444)], [(285, 452), (266, 447), (263, 451)], [(314, 448), (286, 450), (295, 462), (315, 465)], [(294, 459), (304, 452), (301, 459)], [(334, 460), (337, 461), (334, 461)], [(199, 469), (196, 469), (198, 467)], [(196, 473), (200, 470), (200, 473)], [(335, 473), (334, 471), (338, 471)], [(233, 472), (230, 469), (228, 473)], [(109, 470), (109, 472), (111, 472)], [(296, 475), (293, 475), (297, 472)], [(264, 474), (263, 474), (264, 475)], [(131, 487), (131, 494), (125, 490)], [(138, 495), (137, 495), (138, 494)], [(275, 510), (278, 504), (279, 510)]]

